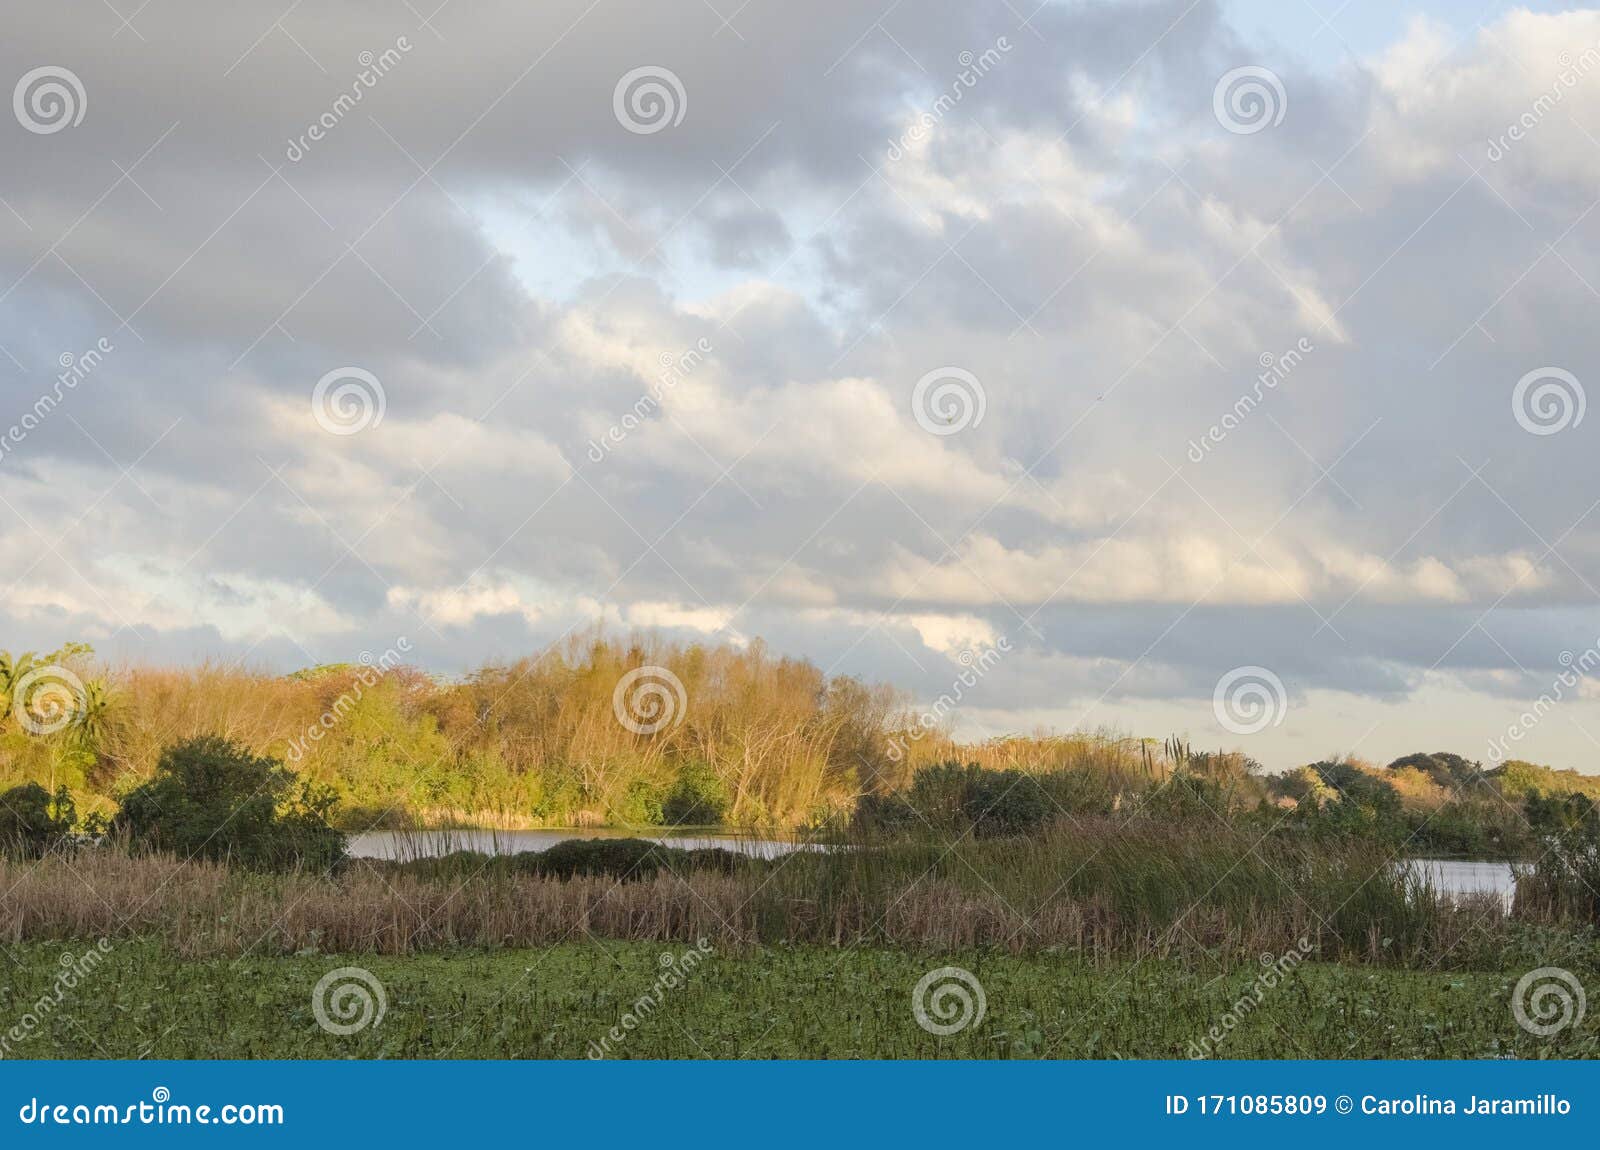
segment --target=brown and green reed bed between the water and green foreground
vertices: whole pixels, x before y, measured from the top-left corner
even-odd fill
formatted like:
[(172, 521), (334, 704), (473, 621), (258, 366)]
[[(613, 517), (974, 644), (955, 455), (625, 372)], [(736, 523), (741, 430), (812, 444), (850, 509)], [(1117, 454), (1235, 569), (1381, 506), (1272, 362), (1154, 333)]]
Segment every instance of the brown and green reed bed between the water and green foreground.
[[(488, 857), (458, 864), (453, 873), (363, 861), (338, 875), (253, 875), (114, 849), (0, 862), (0, 939), (144, 937), (184, 956), (582, 939), (707, 939), (726, 952), (1059, 950), (1091, 963), (1238, 963), (1301, 948), (1330, 961), (1469, 968), (1485, 948), (1509, 953), (1522, 929), (1498, 899), (1442, 897), (1373, 851), (1251, 845), (1198, 827), (1107, 822), (1030, 838), (858, 843), (638, 881), (546, 878)], [(1590, 963), (1587, 934), (1563, 939), (1568, 961)]]

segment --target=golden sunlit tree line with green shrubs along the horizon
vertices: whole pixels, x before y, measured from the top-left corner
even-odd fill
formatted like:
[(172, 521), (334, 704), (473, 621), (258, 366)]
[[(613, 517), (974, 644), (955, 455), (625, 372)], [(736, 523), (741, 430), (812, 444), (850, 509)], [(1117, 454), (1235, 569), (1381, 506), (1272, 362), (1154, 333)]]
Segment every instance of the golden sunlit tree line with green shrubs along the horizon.
[[(227, 849), (269, 865), (333, 861), (326, 837), (317, 841), (325, 821), (835, 832), (853, 822), (982, 837), (1138, 808), (1488, 859), (1534, 859), (1552, 838), (1594, 837), (1600, 825), (1600, 776), (1522, 761), (1483, 769), (1418, 753), (1269, 774), (1181, 739), (1080, 733), (957, 745), (920, 728), (890, 689), (829, 680), (760, 643), (592, 637), (458, 681), (390, 656), (266, 675), (106, 670), (82, 645), (0, 653), (0, 841), (38, 853), (74, 825), (110, 825), (157, 849), (198, 849), (229, 805), (216, 790), (224, 781), (213, 777), (214, 757), (198, 766), (206, 752), (173, 755), (206, 739), (240, 752), (229, 769), (253, 795)], [(618, 693), (640, 673), (682, 688), (664, 694), (661, 723), (621, 721)], [(152, 824), (157, 809), (163, 827)], [(267, 861), (269, 838), (293, 841)]]

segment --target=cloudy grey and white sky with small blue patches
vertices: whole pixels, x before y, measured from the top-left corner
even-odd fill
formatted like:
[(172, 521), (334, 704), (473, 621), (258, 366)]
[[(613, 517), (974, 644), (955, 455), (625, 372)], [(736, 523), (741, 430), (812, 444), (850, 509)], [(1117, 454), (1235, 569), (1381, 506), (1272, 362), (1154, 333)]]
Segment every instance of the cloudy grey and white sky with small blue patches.
[(1597, 11), (30, 8), (10, 649), (1600, 768)]

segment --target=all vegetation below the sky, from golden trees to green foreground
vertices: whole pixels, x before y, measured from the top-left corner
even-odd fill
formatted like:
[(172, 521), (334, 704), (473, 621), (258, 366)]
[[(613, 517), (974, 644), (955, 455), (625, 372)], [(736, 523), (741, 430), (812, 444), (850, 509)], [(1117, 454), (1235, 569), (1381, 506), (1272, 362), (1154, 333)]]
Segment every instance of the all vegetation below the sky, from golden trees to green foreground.
[[(27, 1030), (35, 1057), (581, 1057), (682, 947), (715, 958), (678, 1025), (611, 1054), (1181, 1057), (1290, 953), (1208, 1054), (1595, 1052), (1592, 1027), (1536, 1041), (1506, 1004), (1525, 971), (1600, 971), (1587, 776), (1450, 753), (1267, 774), (1109, 734), (891, 753), (891, 694), (758, 649), (594, 643), (461, 683), (85, 657), (0, 661), (0, 1009), (48, 993), (62, 948), (117, 963)], [(683, 678), (674, 723), (618, 720), (645, 659)], [(50, 665), (80, 670), (29, 696)], [(816, 849), (346, 857), (341, 821), (394, 816), (805, 824)], [(1515, 899), (1445, 896), (1405, 854), (1520, 859)], [(946, 1041), (906, 998), (952, 956), (990, 1016)], [(350, 961), (390, 1014), (334, 1044), (306, 990)]]

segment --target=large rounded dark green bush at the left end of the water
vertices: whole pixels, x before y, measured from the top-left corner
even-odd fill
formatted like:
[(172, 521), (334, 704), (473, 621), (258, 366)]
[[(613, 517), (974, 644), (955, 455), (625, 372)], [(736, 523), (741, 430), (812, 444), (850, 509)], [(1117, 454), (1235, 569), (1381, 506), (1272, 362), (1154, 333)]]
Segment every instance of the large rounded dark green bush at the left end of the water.
[(134, 849), (226, 859), (258, 870), (326, 870), (344, 861), (328, 822), (333, 792), (275, 758), (206, 736), (162, 752), (155, 777), (122, 801), (112, 830)]

